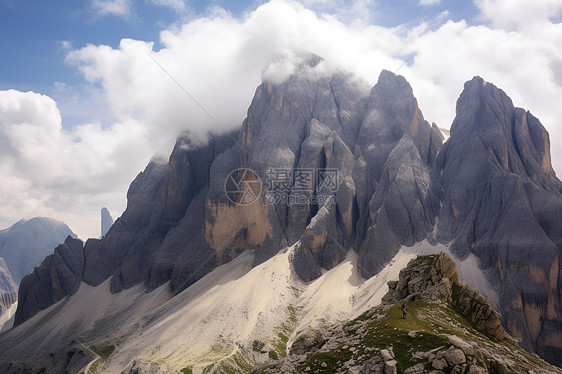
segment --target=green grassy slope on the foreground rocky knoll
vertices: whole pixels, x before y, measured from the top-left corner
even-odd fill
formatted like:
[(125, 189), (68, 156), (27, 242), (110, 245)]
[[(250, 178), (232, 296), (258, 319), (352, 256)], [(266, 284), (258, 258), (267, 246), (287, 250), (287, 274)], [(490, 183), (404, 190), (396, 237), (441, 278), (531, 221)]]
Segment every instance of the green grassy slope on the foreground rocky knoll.
[[(507, 341), (493, 341), (478, 332), (468, 320), (445, 303), (409, 302), (406, 319), (402, 319), (400, 305), (398, 303), (386, 312), (381, 312), (378, 319), (375, 319), (373, 311), (369, 311), (350, 321), (345, 326), (345, 343), (335, 350), (308, 355), (306, 361), (298, 366), (298, 371), (345, 372), (342, 367), (346, 361), (353, 359), (360, 364), (389, 347), (394, 351), (398, 373), (418, 363), (430, 369), (427, 359), (416, 358), (415, 353), (446, 349), (449, 346), (447, 335), (457, 335), (467, 342), (475, 342), (512, 362), (508, 373), (528, 373), (529, 370), (538, 373), (542, 372), (541, 369), (551, 368), (534, 354)], [(408, 336), (410, 331), (416, 331), (416, 337)], [(353, 343), (350, 344), (350, 341)]]

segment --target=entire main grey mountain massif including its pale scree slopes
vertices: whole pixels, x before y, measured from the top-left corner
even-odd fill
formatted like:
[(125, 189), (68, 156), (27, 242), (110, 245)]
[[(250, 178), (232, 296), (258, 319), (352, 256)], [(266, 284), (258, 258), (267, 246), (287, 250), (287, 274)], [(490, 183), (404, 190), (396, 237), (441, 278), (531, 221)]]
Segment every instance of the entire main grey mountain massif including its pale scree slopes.
[[(247, 371), (253, 340), (287, 354), (374, 306), (406, 256), (443, 251), (509, 334), (562, 364), (562, 183), (539, 120), (474, 77), (443, 143), (403, 77), (369, 89), (320, 63), (264, 81), (239, 131), (180, 137), (101, 240), (68, 238), (25, 277), (5, 360), (60, 369), (80, 341), (108, 347), (109, 371)], [(39, 344), (56, 359), (22, 348)]]

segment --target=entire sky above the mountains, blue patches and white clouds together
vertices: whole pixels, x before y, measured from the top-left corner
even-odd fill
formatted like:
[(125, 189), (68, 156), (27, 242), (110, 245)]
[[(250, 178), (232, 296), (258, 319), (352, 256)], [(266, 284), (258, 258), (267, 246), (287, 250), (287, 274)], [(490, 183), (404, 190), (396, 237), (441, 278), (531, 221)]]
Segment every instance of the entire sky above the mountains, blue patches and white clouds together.
[(49, 216), (97, 237), (101, 207), (119, 216), (178, 133), (239, 127), (303, 50), (368, 85), (408, 60), (443, 128), (480, 75), (541, 120), (561, 170), (561, 19), (560, 0), (0, 0), (0, 229)]

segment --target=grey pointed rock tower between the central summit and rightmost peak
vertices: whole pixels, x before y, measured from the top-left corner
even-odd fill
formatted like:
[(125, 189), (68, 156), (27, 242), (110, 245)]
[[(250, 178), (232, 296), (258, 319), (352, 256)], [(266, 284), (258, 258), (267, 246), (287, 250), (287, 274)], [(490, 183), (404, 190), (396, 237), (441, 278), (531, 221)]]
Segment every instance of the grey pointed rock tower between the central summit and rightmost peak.
[(432, 230), (438, 190), (430, 169), (441, 139), (423, 119), (408, 82), (383, 71), (358, 138), (367, 180), (376, 183), (360, 222), (366, 229), (358, 245), (363, 276), (376, 274), (401, 245), (423, 240)]

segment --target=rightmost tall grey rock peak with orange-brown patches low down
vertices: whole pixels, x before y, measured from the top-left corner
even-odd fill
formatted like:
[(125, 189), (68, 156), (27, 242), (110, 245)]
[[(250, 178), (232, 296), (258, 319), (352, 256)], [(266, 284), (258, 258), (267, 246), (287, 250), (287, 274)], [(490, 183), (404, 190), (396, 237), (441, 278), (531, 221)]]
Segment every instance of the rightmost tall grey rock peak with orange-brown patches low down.
[(562, 184), (550, 163), (548, 133), (477, 77), (465, 84), (437, 163), (438, 240), (490, 269), (508, 331), (561, 364)]

